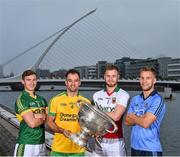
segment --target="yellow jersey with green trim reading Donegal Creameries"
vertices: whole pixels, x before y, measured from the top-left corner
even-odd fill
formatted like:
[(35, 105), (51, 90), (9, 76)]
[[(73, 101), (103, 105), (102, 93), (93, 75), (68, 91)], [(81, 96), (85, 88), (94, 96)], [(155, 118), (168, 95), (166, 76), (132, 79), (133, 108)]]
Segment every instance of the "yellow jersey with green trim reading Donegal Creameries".
[[(66, 92), (56, 95), (50, 100), (48, 115), (55, 116), (55, 123), (59, 127), (70, 130), (72, 133), (79, 132), (79, 107), (76, 105), (79, 99), (90, 103), (88, 99), (79, 94), (75, 97), (67, 96)], [(62, 153), (81, 153), (85, 151), (84, 148), (60, 133), (55, 133), (51, 149)]]

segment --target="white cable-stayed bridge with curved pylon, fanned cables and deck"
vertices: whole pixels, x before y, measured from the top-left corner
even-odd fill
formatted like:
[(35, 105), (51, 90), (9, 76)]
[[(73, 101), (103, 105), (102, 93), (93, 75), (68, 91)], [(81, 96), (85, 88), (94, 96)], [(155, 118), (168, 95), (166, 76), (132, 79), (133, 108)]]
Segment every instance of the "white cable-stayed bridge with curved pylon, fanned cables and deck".
[[(32, 69), (40, 77), (38, 85), (64, 86), (64, 79), (50, 74), (63, 73), (67, 69), (96, 65), (98, 61), (113, 63), (124, 56), (144, 57), (100, 18), (95, 10), (80, 17), (27, 50), (0, 65), (0, 86), (20, 88), (21, 74)], [(39, 76), (42, 76), (39, 75)], [(124, 86), (137, 87), (138, 80), (120, 80)], [(83, 87), (102, 87), (102, 79), (82, 79)], [(180, 82), (158, 81), (161, 86), (179, 88)]]

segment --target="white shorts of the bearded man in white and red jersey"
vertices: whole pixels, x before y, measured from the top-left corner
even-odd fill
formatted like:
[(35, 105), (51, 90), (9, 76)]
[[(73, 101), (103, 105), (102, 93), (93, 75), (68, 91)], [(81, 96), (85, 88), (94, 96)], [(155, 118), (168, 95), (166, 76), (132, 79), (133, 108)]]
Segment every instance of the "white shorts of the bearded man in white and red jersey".
[(95, 142), (94, 152), (92, 156), (108, 156), (108, 157), (122, 157), (126, 156), (124, 139), (109, 139), (103, 138), (101, 145)]

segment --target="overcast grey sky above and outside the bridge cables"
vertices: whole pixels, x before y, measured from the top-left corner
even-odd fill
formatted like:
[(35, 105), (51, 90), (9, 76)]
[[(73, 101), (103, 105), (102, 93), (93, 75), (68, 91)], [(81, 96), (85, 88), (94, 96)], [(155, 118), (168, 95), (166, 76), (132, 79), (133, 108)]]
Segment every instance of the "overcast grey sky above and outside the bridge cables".
[(180, 0), (0, 0), (0, 63), (95, 8), (144, 57), (180, 57)]

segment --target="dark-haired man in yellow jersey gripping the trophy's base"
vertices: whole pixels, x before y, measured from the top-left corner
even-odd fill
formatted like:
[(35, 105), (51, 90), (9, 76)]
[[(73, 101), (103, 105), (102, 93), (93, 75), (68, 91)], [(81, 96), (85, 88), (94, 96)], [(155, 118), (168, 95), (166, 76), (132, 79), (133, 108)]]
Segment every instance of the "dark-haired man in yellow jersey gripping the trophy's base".
[(65, 77), (66, 91), (54, 96), (49, 103), (47, 124), (55, 132), (51, 156), (84, 156), (84, 148), (66, 135), (80, 131), (77, 101), (90, 101), (78, 92), (81, 84), (78, 71), (70, 69)]

